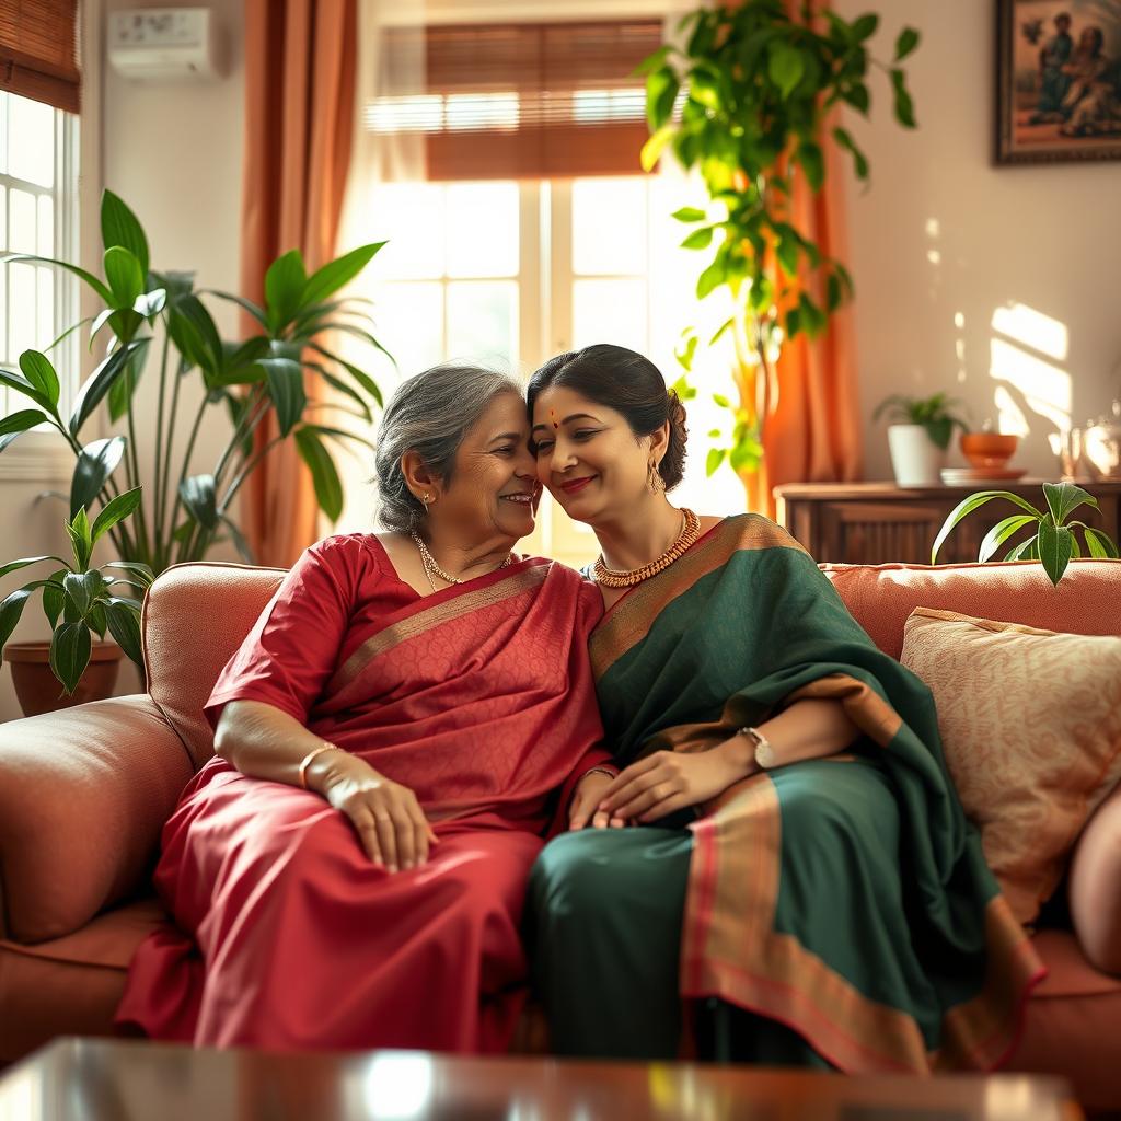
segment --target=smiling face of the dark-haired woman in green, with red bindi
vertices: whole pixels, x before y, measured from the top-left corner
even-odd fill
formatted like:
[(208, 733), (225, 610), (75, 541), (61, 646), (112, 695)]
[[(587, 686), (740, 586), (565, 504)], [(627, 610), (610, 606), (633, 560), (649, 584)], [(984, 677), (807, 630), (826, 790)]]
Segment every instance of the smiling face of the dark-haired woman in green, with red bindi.
[(636, 437), (621, 413), (566, 386), (549, 386), (534, 401), (537, 478), (568, 517), (592, 526), (650, 497), (648, 465), (657, 435), (654, 442)]

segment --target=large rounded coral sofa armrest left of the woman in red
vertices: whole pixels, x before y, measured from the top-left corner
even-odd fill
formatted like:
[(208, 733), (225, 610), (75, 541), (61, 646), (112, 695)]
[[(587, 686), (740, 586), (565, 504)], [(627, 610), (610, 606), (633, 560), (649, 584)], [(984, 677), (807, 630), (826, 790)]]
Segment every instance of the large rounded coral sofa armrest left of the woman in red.
[(58, 938), (136, 891), (193, 769), (147, 695), (0, 724), (0, 935)]

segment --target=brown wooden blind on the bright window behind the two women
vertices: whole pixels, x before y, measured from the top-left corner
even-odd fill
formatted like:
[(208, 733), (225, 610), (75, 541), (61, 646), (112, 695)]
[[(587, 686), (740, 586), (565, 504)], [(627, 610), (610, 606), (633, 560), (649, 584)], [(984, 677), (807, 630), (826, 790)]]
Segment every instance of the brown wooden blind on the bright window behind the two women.
[(374, 133), (420, 133), (429, 179), (636, 175), (647, 139), (634, 67), (656, 20), (391, 28)]

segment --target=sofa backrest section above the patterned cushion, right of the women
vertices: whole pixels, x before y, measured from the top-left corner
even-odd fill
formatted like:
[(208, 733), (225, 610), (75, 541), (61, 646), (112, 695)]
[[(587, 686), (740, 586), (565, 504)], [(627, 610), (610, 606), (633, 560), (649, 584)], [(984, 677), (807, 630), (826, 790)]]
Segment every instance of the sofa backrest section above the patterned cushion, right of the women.
[(821, 567), (892, 658), (902, 652), (904, 623), (916, 608), (1074, 634), (1121, 634), (1121, 560), (1072, 560), (1058, 586), (1035, 560)]

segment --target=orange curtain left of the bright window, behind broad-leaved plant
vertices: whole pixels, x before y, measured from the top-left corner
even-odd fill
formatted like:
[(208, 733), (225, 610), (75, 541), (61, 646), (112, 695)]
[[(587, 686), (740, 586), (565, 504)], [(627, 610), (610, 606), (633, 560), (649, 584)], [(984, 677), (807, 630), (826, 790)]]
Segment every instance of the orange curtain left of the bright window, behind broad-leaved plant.
[[(241, 290), (262, 302), (265, 272), (299, 249), (308, 272), (335, 254), (351, 155), (356, 0), (245, 0), (245, 168)], [(247, 331), (258, 328), (245, 317)], [(308, 381), (314, 400), (317, 382)], [(270, 416), (256, 433), (276, 435)], [(242, 525), (260, 564), (290, 566), (318, 536), (312, 479), (291, 441), (242, 491)]]

